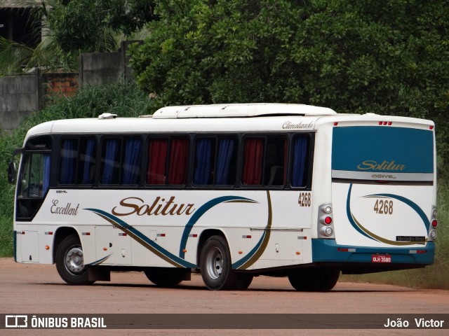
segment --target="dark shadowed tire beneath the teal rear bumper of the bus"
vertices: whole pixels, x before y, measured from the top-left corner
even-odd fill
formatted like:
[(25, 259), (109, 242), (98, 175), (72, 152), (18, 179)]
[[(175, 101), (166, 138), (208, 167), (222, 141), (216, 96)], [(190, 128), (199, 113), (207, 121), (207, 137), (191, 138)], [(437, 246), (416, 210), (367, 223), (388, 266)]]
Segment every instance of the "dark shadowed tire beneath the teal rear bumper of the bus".
[(301, 269), (288, 275), (293, 288), (302, 291), (328, 292), (334, 288), (340, 276), (338, 269)]

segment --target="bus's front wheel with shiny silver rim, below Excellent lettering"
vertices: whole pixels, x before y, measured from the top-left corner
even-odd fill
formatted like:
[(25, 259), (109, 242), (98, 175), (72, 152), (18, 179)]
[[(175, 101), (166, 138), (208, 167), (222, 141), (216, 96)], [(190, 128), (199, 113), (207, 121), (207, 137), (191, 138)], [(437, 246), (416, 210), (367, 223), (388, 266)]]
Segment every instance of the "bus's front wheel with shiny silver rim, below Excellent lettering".
[(95, 282), (88, 279), (78, 235), (70, 235), (62, 240), (56, 251), (55, 262), (60, 277), (69, 285), (91, 285)]

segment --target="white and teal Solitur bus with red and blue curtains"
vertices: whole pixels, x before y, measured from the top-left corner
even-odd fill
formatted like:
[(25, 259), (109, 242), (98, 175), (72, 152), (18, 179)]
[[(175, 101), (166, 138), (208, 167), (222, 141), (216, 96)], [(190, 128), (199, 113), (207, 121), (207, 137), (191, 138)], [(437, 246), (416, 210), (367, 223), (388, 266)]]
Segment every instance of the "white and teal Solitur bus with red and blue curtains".
[[(436, 154), (429, 120), (300, 104), (168, 106), (152, 116), (29, 130), (15, 174), (17, 262), (69, 284), (201, 272), (211, 290), (288, 276), (431, 265)], [(15, 178), (17, 176), (17, 178)]]

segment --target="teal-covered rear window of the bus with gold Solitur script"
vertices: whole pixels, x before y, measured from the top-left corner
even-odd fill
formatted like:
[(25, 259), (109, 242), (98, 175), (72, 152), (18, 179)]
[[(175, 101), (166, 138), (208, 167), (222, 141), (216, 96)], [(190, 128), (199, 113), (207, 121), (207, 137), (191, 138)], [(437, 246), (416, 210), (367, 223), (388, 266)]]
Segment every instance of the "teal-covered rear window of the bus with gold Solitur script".
[(433, 137), (432, 131), (405, 127), (335, 127), (333, 177), (432, 181)]

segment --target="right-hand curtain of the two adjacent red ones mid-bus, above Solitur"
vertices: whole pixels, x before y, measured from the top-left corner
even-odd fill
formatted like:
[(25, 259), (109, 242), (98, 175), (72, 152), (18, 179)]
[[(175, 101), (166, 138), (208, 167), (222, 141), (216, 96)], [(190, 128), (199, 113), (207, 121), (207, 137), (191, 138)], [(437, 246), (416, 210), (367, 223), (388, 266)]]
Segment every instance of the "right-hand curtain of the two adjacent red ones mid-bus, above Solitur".
[(168, 184), (185, 184), (189, 159), (189, 139), (173, 139), (170, 144)]

